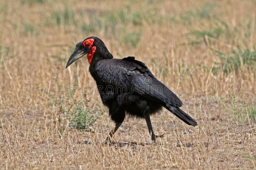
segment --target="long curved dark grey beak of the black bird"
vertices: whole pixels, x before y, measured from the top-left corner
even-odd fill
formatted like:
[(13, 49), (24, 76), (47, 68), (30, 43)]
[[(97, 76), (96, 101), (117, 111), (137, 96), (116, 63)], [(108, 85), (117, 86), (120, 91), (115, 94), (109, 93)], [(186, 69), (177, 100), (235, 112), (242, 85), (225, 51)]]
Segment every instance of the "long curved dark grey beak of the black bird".
[(66, 68), (73, 62), (75, 62), (77, 59), (83, 57), (85, 54), (89, 53), (91, 49), (90, 48), (85, 48), (83, 46), (83, 41), (79, 42), (76, 44), (76, 49), (75, 51), (71, 54), (70, 58), (68, 59), (68, 63)]

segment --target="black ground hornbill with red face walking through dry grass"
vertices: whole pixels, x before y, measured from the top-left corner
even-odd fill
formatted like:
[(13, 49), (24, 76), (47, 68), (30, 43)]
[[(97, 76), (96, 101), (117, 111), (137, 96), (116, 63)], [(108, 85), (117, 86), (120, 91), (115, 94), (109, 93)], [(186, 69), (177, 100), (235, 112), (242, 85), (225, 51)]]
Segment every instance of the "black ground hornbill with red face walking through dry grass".
[[(88, 53), (88, 54), (87, 54)], [(113, 59), (103, 41), (89, 37), (76, 44), (66, 68), (87, 54), (89, 71), (96, 81), (102, 103), (109, 108), (109, 116), (116, 126), (109, 133), (105, 143), (123, 123), (125, 113), (144, 118), (155, 143), (157, 136), (152, 129), (150, 115), (162, 107), (172, 112), (186, 124), (196, 126), (197, 122), (180, 109), (182, 102), (149, 71), (148, 67), (134, 57)]]

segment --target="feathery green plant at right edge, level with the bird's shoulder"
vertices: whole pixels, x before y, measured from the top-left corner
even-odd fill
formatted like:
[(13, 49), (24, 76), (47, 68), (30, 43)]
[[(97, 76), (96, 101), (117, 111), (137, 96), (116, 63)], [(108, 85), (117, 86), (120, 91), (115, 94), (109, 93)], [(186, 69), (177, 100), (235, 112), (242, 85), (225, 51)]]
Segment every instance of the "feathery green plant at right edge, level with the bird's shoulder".
[(243, 51), (241, 48), (232, 50), (231, 54), (225, 54), (217, 50), (213, 51), (221, 60), (221, 63), (216, 63), (217, 66), (215, 68), (222, 68), (225, 74), (241, 69), (242, 66), (246, 66), (249, 69), (255, 69), (256, 46), (254, 46), (252, 52), (249, 49)]

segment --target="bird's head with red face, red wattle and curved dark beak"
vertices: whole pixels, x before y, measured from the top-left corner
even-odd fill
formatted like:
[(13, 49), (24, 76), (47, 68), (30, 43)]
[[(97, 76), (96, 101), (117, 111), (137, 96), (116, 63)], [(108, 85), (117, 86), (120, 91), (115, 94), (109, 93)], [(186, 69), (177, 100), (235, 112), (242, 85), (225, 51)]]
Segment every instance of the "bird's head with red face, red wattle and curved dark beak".
[[(109, 58), (109, 52), (103, 41), (97, 37), (88, 37), (84, 41), (81, 41), (76, 44), (75, 51), (71, 54), (70, 58), (68, 59), (68, 63), (66, 68), (75, 62), (77, 59), (83, 57), (85, 54), (87, 54), (87, 59), (89, 63), (91, 64), (92, 60), (94, 59), (94, 56), (97, 57), (98, 60), (100, 59), (107, 59)], [(110, 54), (111, 55), (111, 54)], [(113, 58), (113, 56), (111, 55)], [(96, 59), (95, 59), (96, 60)]]

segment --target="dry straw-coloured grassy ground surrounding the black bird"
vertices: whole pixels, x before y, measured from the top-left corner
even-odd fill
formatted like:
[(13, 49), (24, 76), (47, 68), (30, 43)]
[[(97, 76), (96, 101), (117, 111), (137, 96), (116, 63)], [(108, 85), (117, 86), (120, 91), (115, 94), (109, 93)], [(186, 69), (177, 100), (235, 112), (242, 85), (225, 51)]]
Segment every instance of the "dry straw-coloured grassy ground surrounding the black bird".
[[(255, 9), (253, 0), (1, 0), (1, 169), (255, 169)], [(156, 144), (103, 144), (114, 123), (86, 57), (65, 69), (89, 36), (115, 58), (145, 62), (199, 125), (164, 109), (151, 117), (165, 134)], [(151, 142), (137, 118), (113, 140)]]

